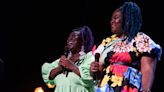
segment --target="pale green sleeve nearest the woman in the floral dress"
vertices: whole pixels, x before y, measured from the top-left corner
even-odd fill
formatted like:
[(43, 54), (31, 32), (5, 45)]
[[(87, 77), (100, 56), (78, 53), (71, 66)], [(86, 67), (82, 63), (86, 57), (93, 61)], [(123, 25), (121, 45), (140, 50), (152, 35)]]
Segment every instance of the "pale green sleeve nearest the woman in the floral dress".
[(86, 54), (83, 63), (79, 66), (79, 71), (81, 75), (81, 79), (86, 86), (93, 85), (93, 78), (90, 73), (90, 65), (94, 61), (94, 56), (92, 52)]

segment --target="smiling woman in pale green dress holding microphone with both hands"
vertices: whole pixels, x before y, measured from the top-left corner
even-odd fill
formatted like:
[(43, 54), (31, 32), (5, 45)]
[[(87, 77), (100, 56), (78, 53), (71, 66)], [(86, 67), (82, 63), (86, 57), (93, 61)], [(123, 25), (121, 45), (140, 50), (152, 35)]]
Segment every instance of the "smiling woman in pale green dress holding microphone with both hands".
[(54, 92), (94, 92), (90, 64), (93, 35), (88, 26), (73, 29), (67, 39), (65, 55), (42, 65), (46, 84), (55, 85)]

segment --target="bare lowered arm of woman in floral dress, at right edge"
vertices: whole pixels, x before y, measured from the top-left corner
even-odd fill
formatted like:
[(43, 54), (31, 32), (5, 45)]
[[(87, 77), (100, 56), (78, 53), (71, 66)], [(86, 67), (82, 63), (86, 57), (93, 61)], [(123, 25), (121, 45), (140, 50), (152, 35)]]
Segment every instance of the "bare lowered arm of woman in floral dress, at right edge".
[(147, 90), (150, 90), (153, 85), (156, 63), (157, 60), (151, 57), (143, 56), (141, 58), (143, 92), (148, 92)]

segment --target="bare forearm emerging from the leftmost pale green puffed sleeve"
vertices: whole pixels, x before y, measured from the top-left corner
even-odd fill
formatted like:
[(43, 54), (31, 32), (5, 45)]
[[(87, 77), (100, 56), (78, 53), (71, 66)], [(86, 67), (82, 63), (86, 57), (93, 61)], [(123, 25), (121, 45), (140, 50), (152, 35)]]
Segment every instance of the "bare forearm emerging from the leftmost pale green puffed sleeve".
[(52, 69), (50, 72), (50, 75), (49, 75), (49, 79), (50, 80), (54, 79), (60, 73), (62, 73), (62, 67), (61, 66), (58, 66), (58, 67)]

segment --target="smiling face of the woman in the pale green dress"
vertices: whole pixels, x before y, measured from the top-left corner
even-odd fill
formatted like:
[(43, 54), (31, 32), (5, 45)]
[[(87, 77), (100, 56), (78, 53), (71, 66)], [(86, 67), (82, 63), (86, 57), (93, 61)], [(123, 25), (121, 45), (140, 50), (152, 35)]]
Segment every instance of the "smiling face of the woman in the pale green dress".
[(80, 32), (72, 32), (67, 39), (67, 48), (73, 52), (81, 50), (82, 41)]

